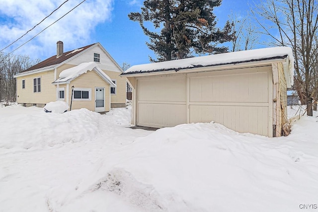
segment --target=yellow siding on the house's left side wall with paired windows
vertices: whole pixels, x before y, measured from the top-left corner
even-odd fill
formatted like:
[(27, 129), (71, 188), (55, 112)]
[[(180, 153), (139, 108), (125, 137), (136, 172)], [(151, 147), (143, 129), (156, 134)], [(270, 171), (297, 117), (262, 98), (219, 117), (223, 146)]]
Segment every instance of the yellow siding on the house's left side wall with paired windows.
[[(41, 77), (41, 92), (33, 93), (33, 78)], [(25, 79), (25, 88), (22, 89), (22, 79)], [(20, 76), (17, 80), (17, 102), (31, 104), (47, 104), (56, 101), (56, 86), (54, 70), (27, 76)]]

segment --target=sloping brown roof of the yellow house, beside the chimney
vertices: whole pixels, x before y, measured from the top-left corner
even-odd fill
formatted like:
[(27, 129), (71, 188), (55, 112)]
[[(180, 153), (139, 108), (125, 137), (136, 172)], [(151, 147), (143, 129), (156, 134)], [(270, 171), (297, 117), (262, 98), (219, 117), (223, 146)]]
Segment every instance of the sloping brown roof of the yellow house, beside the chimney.
[(88, 49), (89, 47), (93, 46), (95, 43), (93, 44), (90, 44), (88, 46), (84, 46), (84, 47), (81, 47), (81, 48), (78, 48), (78, 49), (75, 49), (75, 50), (71, 50), (71, 51), (68, 51), (68, 52), (65, 52), (63, 53), (62, 56), (60, 57), (56, 57), (56, 55), (22, 71), (22, 72), (25, 72), (25, 71), (31, 71), (31, 70), (38, 70), (38, 69), (42, 69), (42, 68), (46, 68), (46, 67), (50, 67), (50, 66), (53, 66), (53, 65), (57, 65), (57, 64), (60, 64), (60, 63), (63, 63), (64, 61), (68, 60), (69, 58), (79, 54), (80, 52)]

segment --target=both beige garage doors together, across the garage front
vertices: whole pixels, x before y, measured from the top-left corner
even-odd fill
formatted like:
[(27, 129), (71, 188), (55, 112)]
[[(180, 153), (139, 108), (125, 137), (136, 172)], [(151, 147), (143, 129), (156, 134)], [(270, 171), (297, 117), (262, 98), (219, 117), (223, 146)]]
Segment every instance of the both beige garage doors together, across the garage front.
[(137, 78), (137, 125), (220, 123), (271, 137), (272, 68), (206, 71)]

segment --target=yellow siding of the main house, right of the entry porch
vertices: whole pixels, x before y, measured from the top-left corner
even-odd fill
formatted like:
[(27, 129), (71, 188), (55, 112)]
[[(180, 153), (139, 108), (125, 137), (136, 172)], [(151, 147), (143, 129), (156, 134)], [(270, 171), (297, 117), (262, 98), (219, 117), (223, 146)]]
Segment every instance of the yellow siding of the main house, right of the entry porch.
[(103, 70), (111, 79), (116, 80), (116, 94), (111, 94), (111, 103), (126, 103), (126, 79), (120, 77), (120, 72), (115, 71), (105, 71)]

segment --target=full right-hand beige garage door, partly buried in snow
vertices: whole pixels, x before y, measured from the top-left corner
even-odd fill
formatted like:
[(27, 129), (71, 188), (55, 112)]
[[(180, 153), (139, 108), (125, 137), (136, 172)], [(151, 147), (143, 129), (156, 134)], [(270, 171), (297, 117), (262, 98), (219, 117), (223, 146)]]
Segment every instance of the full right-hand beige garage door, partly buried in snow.
[(188, 74), (189, 122), (270, 136), (271, 67)]

